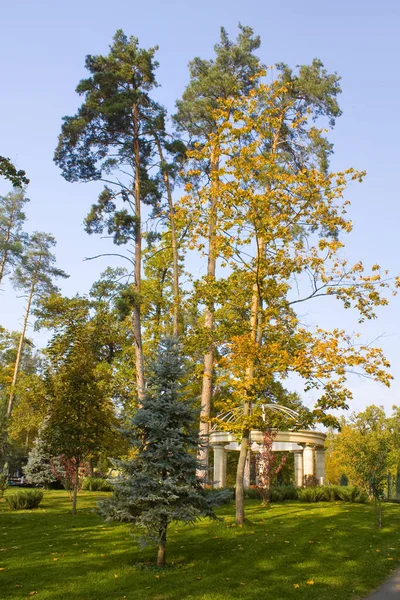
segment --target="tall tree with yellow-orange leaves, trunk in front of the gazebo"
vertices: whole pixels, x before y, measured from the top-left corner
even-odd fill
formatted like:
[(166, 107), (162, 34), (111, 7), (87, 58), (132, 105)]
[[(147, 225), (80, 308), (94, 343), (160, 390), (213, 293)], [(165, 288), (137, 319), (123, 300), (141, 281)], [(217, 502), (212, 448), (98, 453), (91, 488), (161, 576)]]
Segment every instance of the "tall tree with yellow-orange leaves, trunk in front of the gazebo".
[[(297, 73), (281, 66), (271, 84), (257, 82), (247, 94), (221, 102), (212, 138), (189, 153), (201, 165), (219, 148), (218, 190), (199, 185), (200, 167), (193, 168), (189, 175), (194, 182), (187, 186), (182, 207), (196, 223), (192, 243), (197, 247), (202, 247), (209, 223), (201, 208), (203, 197), (211, 195), (223, 214), (218, 251), (232, 273), (218, 285), (209, 282), (208, 293), (225, 294), (244, 317), (241, 331), (237, 319), (232, 324), (220, 360), (243, 406), (238, 523), (244, 521), (243, 473), (252, 406), (269, 394), (276, 380), (295, 372), (306, 390), (321, 390), (313, 417), (328, 426), (335, 423), (329, 409), (346, 408), (351, 398), (348, 370), (386, 385), (390, 381), (379, 348), (356, 346), (340, 329), (307, 329), (295, 311), (299, 303), (326, 296), (354, 308), (363, 321), (387, 303), (387, 273), (374, 265), (369, 275), (361, 262), (349, 265), (342, 258), (341, 238), (351, 231), (346, 185), (362, 179), (363, 173), (329, 172), (332, 147), (315, 124), (325, 117), (333, 125), (340, 114), (339, 91), (338, 76), (328, 74), (320, 61)], [(302, 285), (297, 287), (299, 280)]]

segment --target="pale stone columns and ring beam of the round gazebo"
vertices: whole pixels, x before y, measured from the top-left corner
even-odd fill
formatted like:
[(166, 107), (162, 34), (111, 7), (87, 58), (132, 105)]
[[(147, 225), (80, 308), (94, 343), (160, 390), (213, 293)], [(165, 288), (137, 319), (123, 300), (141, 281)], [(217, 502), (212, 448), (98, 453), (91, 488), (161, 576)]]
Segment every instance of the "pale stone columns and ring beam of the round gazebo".
[[(263, 431), (250, 433), (251, 452), (259, 452), (263, 445)], [(317, 477), (321, 485), (325, 481), (325, 442), (326, 434), (312, 430), (277, 431), (272, 445), (276, 452), (293, 452), (294, 476), (297, 487), (301, 487), (306, 475)], [(226, 466), (228, 452), (238, 452), (240, 444), (237, 437), (229, 431), (212, 431), (210, 445), (214, 451), (214, 487), (226, 485)], [(247, 460), (249, 467), (249, 457)], [(245, 487), (250, 485), (249, 471), (245, 475)]]

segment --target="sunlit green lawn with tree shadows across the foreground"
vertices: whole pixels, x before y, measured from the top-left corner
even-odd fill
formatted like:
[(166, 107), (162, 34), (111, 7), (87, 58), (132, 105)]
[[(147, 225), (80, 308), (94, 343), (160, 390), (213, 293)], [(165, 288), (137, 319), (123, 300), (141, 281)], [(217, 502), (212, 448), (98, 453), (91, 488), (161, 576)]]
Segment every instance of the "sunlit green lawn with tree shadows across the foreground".
[(82, 492), (76, 517), (65, 492), (45, 492), (34, 511), (0, 501), (2, 600), (349, 600), (400, 561), (398, 505), (385, 505), (378, 530), (370, 505), (248, 501), (244, 527), (233, 505), (223, 521), (171, 526), (169, 566), (157, 570), (128, 525), (94, 513), (97, 498)]

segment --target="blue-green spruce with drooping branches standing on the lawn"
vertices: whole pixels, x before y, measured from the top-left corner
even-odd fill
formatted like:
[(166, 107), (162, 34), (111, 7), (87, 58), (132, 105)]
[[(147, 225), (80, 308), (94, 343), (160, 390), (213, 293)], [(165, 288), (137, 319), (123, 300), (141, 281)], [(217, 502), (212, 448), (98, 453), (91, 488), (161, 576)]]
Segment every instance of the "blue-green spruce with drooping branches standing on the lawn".
[(158, 545), (159, 567), (165, 565), (168, 525), (193, 523), (204, 515), (216, 518), (212, 504), (222, 499), (215, 496), (212, 503), (196, 476), (199, 436), (195, 414), (182, 397), (179, 351), (175, 339), (160, 344), (141, 408), (132, 419), (135, 455), (115, 461), (121, 476), (113, 497), (100, 504), (106, 519), (133, 523), (142, 541)]

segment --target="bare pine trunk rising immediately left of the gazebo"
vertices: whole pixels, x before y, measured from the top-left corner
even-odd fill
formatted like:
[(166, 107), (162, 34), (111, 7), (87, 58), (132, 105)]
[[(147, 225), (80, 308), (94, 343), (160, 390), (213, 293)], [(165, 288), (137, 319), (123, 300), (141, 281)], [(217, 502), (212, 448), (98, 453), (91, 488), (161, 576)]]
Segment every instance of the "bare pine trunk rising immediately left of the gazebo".
[[(216, 227), (217, 227), (217, 201), (218, 201), (218, 178), (215, 176), (215, 172), (219, 167), (219, 157), (217, 149), (213, 149), (211, 153), (211, 185), (216, 186), (216, 190), (212, 190), (211, 201), (210, 201), (210, 224), (208, 229), (208, 263), (207, 263), (207, 277), (210, 280), (215, 279), (215, 267), (216, 267)], [(214, 176), (213, 176), (214, 173)], [(213, 329), (214, 329), (214, 303), (212, 301), (207, 302), (204, 311), (204, 327), (208, 330), (209, 345), (207, 352), (204, 355), (204, 370), (203, 370), (203, 381), (201, 388), (201, 400), (200, 400), (200, 442), (201, 446), (198, 452), (198, 459), (202, 465), (202, 468), (198, 470), (198, 476), (207, 481), (208, 479), (208, 463), (209, 463), (209, 418), (211, 414), (211, 398), (212, 398), (212, 387), (213, 387), (213, 370), (214, 370), (214, 341), (213, 341)]]

